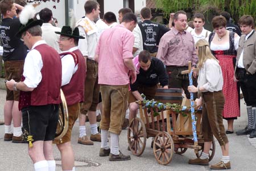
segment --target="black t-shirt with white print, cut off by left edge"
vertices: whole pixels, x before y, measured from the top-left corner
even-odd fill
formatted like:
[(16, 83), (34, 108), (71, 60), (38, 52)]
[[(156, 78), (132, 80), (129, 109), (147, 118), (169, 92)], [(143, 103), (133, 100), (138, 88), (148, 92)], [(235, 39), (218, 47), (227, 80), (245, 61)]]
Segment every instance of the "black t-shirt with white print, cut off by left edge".
[(0, 23), (0, 43), (3, 47), (3, 61), (24, 60), (27, 47), (16, 33), (19, 31), (19, 18), (4, 18)]

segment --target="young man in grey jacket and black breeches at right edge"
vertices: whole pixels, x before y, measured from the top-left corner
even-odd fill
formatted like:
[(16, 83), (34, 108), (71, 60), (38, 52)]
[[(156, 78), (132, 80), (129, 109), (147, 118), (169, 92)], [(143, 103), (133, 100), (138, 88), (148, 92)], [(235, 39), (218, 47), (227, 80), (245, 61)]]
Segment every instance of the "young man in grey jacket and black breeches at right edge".
[(248, 124), (245, 129), (236, 133), (237, 135), (250, 134), (250, 138), (254, 138), (256, 137), (256, 33), (254, 19), (250, 15), (243, 15), (238, 24), (242, 36), (237, 50), (234, 80), (240, 81), (241, 84), (247, 107)]

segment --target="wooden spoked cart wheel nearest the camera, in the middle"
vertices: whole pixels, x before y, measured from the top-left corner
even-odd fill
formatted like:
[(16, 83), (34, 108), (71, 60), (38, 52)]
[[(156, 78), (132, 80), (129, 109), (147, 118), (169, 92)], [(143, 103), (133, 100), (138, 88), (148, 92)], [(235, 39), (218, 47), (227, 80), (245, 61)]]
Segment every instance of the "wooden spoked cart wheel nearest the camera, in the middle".
[(174, 155), (174, 141), (167, 132), (159, 132), (155, 136), (154, 155), (159, 164), (167, 165)]

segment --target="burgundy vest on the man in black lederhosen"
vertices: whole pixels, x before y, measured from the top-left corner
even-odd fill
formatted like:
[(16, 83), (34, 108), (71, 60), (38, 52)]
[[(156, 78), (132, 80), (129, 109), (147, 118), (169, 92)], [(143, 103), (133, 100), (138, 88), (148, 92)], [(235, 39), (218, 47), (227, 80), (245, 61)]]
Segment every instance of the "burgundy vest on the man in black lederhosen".
[[(30, 105), (42, 106), (61, 102), (61, 60), (59, 53), (47, 44), (40, 44), (35, 49), (42, 56), (42, 80), (33, 91), (20, 91), (19, 109)], [(24, 81), (24, 77), (22, 81)]]

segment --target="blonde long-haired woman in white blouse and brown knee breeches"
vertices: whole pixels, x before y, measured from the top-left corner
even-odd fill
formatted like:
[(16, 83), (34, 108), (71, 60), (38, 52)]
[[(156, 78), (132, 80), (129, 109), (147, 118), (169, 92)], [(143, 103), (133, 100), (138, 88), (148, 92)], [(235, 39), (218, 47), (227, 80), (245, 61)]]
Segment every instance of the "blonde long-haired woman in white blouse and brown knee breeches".
[(200, 39), (196, 43), (196, 53), (199, 57), (198, 86), (188, 86), (188, 91), (199, 93), (196, 106), (203, 105), (202, 130), (204, 137), (204, 151), (200, 158), (189, 160), (189, 164), (208, 165), (209, 150), (213, 135), (221, 145), (222, 160), (211, 165), (210, 169), (230, 169), (229, 141), (225, 134), (222, 111), (224, 108), (224, 95), (222, 93), (223, 77), (218, 60), (212, 55), (207, 40)]

